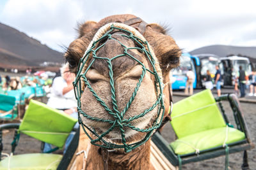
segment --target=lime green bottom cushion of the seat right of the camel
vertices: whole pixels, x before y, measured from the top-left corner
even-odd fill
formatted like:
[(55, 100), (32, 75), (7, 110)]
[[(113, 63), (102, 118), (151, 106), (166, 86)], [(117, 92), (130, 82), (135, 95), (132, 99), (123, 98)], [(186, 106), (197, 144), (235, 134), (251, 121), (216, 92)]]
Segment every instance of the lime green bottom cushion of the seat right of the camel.
[[(228, 132), (227, 131), (228, 128)], [(227, 139), (226, 139), (227, 134)], [(195, 148), (202, 151), (217, 146), (222, 146), (223, 143), (234, 143), (245, 139), (243, 132), (232, 127), (219, 127), (208, 131), (198, 132), (188, 135), (184, 138), (179, 138), (170, 143), (174, 152), (179, 155), (195, 152)]]

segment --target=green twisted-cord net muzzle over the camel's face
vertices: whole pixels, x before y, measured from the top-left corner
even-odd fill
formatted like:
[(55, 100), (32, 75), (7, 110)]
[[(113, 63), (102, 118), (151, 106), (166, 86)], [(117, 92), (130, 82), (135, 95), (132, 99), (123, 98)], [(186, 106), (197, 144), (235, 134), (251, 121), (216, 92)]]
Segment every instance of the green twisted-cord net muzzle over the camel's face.
[[(118, 29), (119, 31), (122, 32), (126, 32), (127, 34), (120, 34), (120, 36), (124, 36), (126, 38), (130, 38), (133, 41), (135, 41), (136, 43), (136, 47), (132, 47), (132, 48), (127, 48), (124, 44), (122, 44), (120, 41), (118, 41), (115, 38), (112, 38), (112, 34), (111, 32), (113, 32), (114, 30)], [(105, 57), (97, 57), (96, 52), (102, 48), (102, 46), (104, 46), (106, 44), (103, 43), (102, 45), (100, 45), (99, 47), (97, 47), (97, 43), (99, 43), (102, 39), (104, 39), (106, 41), (106, 38), (108, 39), (113, 39), (115, 41), (117, 41), (118, 43), (120, 43), (120, 45), (122, 45), (122, 47), (124, 48), (124, 54), (121, 55), (117, 55), (115, 57), (113, 57), (112, 59), (108, 59)], [(96, 48), (97, 47), (97, 48)], [(77, 76), (76, 76), (76, 80), (74, 81), (74, 89), (75, 89), (75, 94), (76, 94), (76, 99), (77, 99), (77, 111), (78, 111), (78, 115), (79, 115), (79, 124), (82, 125), (84, 132), (86, 133), (86, 135), (88, 136), (88, 138), (91, 139), (91, 143), (93, 145), (96, 146), (100, 146), (103, 148), (108, 148), (108, 149), (113, 149), (113, 148), (124, 148), (125, 152), (130, 152), (131, 150), (133, 150), (134, 148), (137, 148), (138, 146), (142, 145), (143, 143), (145, 143), (150, 136), (152, 135), (152, 133), (154, 132), (154, 130), (158, 129), (159, 126), (161, 125), (161, 122), (163, 120), (163, 115), (164, 115), (164, 104), (163, 104), (163, 89), (161, 88), (161, 81), (159, 78), (159, 75), (157, 74), (156, 68), (155, 68), (155, 61), (152, 57), (152, 54), (150, 53), (148, 48), (148, 42), (147, 41), (142, 41), (140, 38), (134, 36), (134, 34), (132, 34), (132, 32), (124, 30), (124, 29), (120, 29), (118, 27), (115, 26), (111, 26), (109, 31), (106, 32), (106, 34), (104, 34), (101, 38), (99, 38), (97, 41), (93, 42), (92, 44), (92, 48), (90, 48), (90, 50), (88, 50), (88, 52), (84, 55), (83, 58), (81, 58), (79, 65), (78, 65), (78, 69), (77, 69)], [(128, 50), (131, 49), (137, 49), (140, 52), (144, 53), (145, 56), (147, 57), (147, 60), (149, 61), (150, 67), (152, 67), (152, 71), (148, 70), (145, 65), (143, 63), (141, 63), (138, 59), (136, 59), (134, 56), (132, 56), (131, 54), (128, 53)], [(92, 60), (89, 61), (88, 58), (89, 56), (92, 55)], [(116, 103), (116, 96), (115, 96), (115, 81), (113, 78), (113, 67), (111, 64), (111, 61), (118, 58), (118, 57), (123, 57), (123, 56), (129, 56), (131, 59), (136, 60), (136, 62), (138, 62), (138, 64), (141, 65), (142, 70), (142, 74), (140, 76), (140, 79), (138, 80), (138, 83), (136, 85), (136, 87), (134, 88), (134, 92), (132, 93), (131, 98), (129, 99), (128, 103), (126, 104), (124, 110), (120, 111), (118, 110), (118, 106)], [(104, 103), (104, 101), (102, 101), (102, 99), (100, 99), (100, 97), (97, 95), (97, 93), (93, 90), (92, 86), (90, 85), (89, 81), (86, 78), (86, 73), (88, 72), (88, 70), (90, 69), (90, 67), (92, 66), (93, 62), (95, 62), (95, 60), (105, 60), (106, 63), (108, 64), (108, 68), (109, 68), (109, 78), (110, 78), (110, 86), (111, 86), (111, 100), (112, 100), (112, 104), (113, 104), (113, 110), (111, 110), (111, 108), (109, 108), (106, 103)], [(86, 68), (86, 70), (84, 71), (84, 73), (82, 73), (83, 71), (83, 67), (86, 65), (86, 63), (90, 62), (90, 64), (88, 65), (88, 67)], [(132, 101), (134, 101), (134, 98), (136, 97), (136, 94), (138, 92), (138, 89), (140, 88), (140, 85), (143, 81), (143, 78), (145, 76), (145, 74), (147, 73), (152, 74), (156, 81), (154, 83), (155, 88), (157, 89), (157, 85), (159, 86), (160, 92), (158, 92), (157, 90), (157, 100), (156, 103), (154, 103), (152, 105), (152, 107), (147, 108), (147, 110), (143, 111), (143, 113), (140, 113), (139, 115), (136, 115), (134, 117), (130, 117), (127, 119), (124, 119), (124, 115), (127, 112), (127, 110), (129, 110)], [(81, 80), (81, 78), (83, 78), (83, 80)], [(83, 90), (81, 89), (81, 81), (84, 81), (84, 84), (86, 85), (86, 87), (90, 90), (90, 92), (92, 92), (93, 96), (95, 97), (95, 99), (97, 99), (97, 101), (99, 101), (99, 103), (103, 106), (103, 108), (108, 112), (109, 115), (112, 115), (114, 120), (105, 120), (103, 118), (97, 118), (97, 117), (92, 117), (88, 114), (86, 114), (83, 110), (81, 110), (81, 95), (83, 94)], [(154, 108), (156, 108), (158, 106), (157, 109), (157, 117), (154, 119), (154, 122), (152, 124), (151, 127), (148, 127), (147, 129), (140, 129), (138, 127), (134, 127), (133, 125), (131, 125), (131, 121), (132, 120), (136, 120), (140, 117), (143, 117), (144, 115), (146, 115), (149, 111), (154, 110)], [(162, 114), (161, 114), (162, 113)], [(161, 117), (160, 117), (161, 115)], [(87, 125), (85, 125), (81, 119), (81, 117), (85, 117), (88, 118), (90, 120), (93, 121), (97, 121), (97, 122), (106, 122), (108, 124), (111, 125), (111, 127), (109, 127), (109, 129), (106, 132), (102, 132), (101, 134), (98, 134), (95, 129), (93, 127), (88, 127)], [(158, 122), (158, 123), (157, 123)], [(88, 129), (88, 131), (92, 132), (92, 134), (94, 136), (97, 137), (97, 139), (93, 139), (88, 132), (86, 132), (86, 129)], [(115, 143), (111, 143), (109, 141), (106, 141), (104, 139), (104, 136), (106, 136), (109, 132), (113, 131), (113, 129), (115, 127), (118, 127), (120, 130), (120, 134), (122, 137), (122, 145), (116, 145)], [(141, 139), (141, 141), (138, 141), (136, 143), (130, 143), (128, 144), (126, 139), (125, 139), (125, 131), (124, 131), (124, 127), (129, 127), (135, 131), (138, 132), (145, 132), (147, 134), (145, 134), (145, 138)], [(100, 144), (100, 143), (101, 144)]]

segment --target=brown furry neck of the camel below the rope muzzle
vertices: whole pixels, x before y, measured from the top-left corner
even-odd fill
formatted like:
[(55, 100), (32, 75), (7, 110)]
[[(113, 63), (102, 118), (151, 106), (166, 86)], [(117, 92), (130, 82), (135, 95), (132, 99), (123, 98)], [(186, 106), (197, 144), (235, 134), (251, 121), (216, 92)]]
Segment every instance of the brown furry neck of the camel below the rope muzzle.
[(154, 169), (150, 164), (150, 140), (129, 153), (108, 152), (99, 150), (92, 145), (86, 160), (86, 169), (104, 169), (104, 159), (108, 160), (108, 170), (111, 169)]

